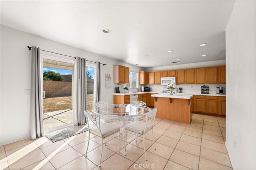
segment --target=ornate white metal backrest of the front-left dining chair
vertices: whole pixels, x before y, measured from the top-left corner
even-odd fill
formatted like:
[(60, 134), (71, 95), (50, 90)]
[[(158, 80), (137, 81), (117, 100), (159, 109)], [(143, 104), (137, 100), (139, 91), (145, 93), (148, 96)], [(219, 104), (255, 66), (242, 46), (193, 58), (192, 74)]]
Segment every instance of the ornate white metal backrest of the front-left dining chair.
[(102, 134), (100, 130), (100, 115), (98, 113), (92, 113), (91, 111), (84, 111), (84, 115), (87, 118), (89, 130), (93, 127), (97, 127), (100, 134)]

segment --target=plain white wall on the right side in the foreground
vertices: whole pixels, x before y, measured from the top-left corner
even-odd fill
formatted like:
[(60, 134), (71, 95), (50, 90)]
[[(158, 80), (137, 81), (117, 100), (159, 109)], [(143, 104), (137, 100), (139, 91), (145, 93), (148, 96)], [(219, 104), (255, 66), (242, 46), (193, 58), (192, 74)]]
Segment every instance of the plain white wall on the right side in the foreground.
[(226, 28), (225, 143), (234, 169), (256, 169), (255, 5), (236, 1)]

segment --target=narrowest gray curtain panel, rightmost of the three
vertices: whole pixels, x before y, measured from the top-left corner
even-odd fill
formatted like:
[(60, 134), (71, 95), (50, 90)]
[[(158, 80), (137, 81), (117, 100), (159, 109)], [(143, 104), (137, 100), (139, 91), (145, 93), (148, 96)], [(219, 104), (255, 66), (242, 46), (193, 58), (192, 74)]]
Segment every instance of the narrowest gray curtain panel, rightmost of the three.
[(97, 61), (94, 68), (93, 103), (98, 101), (100, 101), (100, 62)]

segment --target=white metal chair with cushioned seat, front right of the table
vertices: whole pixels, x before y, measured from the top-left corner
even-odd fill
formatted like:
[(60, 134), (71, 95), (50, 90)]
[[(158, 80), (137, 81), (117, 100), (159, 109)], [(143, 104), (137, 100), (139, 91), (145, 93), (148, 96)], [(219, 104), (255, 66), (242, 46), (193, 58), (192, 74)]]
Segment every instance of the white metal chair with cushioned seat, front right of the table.
[[(143, 148), (144, 148), (144, 153), (145, 153), (146, 160), (148, 160), (148, 159), (147, 159), (146, 149), (145, 149), (145, 144), (144, 144), (144, 134), (146, 134), (146, 132), (148, 132), (151, 129), (152, 129), (154, 147), (156, 149), (155, 140), (154, 140), (154, 129), (153, 129), (154, 121), (155, 121), (155, 117), (156, 117), (156, 112), (157, 112), (157, 109), (153, 109), (152, 111), (149, 111), (146, 114), (146, 122), (144, 122), (144, 121), (134, 121), (134, 122), (129, 123), (128, 125), (125, 126), (125, 129), (128, 130), (128, 131), (134, 132), (136, 134), (143, 135)], [(145, 119), (145, 118), (142, 118), (142, 119)], [(136, 135), (136, 142), (137, 142), (137, 135)]]

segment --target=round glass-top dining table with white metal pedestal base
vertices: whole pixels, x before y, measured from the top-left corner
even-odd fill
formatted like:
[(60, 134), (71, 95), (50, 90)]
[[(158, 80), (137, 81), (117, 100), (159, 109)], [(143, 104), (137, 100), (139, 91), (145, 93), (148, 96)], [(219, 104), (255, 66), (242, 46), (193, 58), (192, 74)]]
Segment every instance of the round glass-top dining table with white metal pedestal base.
[[(125, 131), (125, 122), (126, 121), (136, 121), (142, 117), (145, 117), (146, 114), (151, 111), (149, 107), (131, 105), (131, 104), (114, 104), (102, 107), (98, 109), (98, 113), (102, 115), (102, 119), (108, 119), (110, 122), (122, 122), (122, 131), (123, 131), (123, 142), (124, 142), (124, 155), (126, 155), (126, 143), (124, 140)], [(127, 134), (126, 134), (127, 140)], [(118, 141), (119, 142), (119, 141)]]

